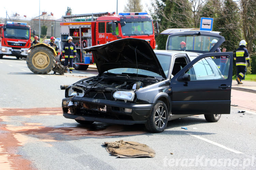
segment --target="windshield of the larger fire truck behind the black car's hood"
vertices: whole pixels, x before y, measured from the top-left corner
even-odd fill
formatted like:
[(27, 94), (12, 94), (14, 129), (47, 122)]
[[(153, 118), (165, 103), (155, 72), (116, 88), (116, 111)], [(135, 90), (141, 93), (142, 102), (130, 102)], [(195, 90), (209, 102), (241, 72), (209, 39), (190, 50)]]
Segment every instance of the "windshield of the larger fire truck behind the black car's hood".
[(150, 35), (153, 34), (152, 21), (127, 22), (122, 27), (123, 35)]

